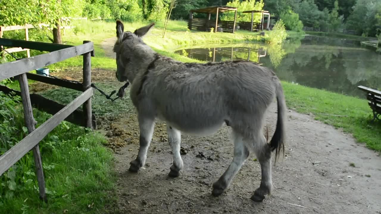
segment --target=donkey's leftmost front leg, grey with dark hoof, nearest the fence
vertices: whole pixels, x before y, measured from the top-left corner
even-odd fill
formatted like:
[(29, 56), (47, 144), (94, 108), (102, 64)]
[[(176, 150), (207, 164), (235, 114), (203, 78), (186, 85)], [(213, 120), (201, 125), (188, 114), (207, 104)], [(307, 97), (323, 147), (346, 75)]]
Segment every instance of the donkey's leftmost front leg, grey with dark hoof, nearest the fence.
[(155, 118), (138, 115), (140, 137), (138, 157), (130, 162), (130, 172), (138, 172), (147, 159), (147, 150), (154, 134)]

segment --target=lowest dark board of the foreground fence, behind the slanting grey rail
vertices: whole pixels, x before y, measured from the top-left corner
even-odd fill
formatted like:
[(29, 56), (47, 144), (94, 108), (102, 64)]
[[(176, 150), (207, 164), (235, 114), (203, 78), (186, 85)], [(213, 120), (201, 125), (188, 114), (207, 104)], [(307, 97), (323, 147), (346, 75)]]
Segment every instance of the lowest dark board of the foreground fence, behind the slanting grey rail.
[[(16, 91), (13, 89), (10, 89), (6, 86), (0, 85), (0, 91), (4, 92), (5, 94), (8, 94), (9, 96), (21, 96), (20, 91)], [(82, 91), (82, 90), (81, 90)], [(61, 109), (63, 109), (66, 105), (62, 105), (56, 101), (53, 101), (51, 99), (45, 98), (41, 96), (40, 94), (29, 94), (30, 96), (30, 103), (33, 107), (37, 108), (38, 110), (41, 110), (46, 113), (50, 113), (51, 115), (56, 114)], [(93, 128), (96, 129), (96, 117), (94, 114), (91, 115), (92, 122), (93, 122)], [(67, 116), (65, 121), (68, 121), (69, 123), (73, 123), (78, 126), (86, 127), (85, 118), (83, 116), (83, 111), (80, 109), (74, 110), (69, 116)]]

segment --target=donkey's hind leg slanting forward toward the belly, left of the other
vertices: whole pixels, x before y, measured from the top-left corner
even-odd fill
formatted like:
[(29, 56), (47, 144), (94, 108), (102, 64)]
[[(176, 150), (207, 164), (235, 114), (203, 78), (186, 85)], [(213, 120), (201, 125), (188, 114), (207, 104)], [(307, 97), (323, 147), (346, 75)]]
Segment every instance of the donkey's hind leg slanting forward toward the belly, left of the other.
[(243, 143), (242, 136), (233, 131), (233, 139), (233, 161), (230, 163), (224, 174), (213, 184), (212, 195), (214, 196), (219, 196), (226, 190), (230, 182), (233, 180), (235, 174), (237, 174), (237, 172), (240, 170), (243, 162), (247, 159), (247, 157), (249, 157), (249, 150)]

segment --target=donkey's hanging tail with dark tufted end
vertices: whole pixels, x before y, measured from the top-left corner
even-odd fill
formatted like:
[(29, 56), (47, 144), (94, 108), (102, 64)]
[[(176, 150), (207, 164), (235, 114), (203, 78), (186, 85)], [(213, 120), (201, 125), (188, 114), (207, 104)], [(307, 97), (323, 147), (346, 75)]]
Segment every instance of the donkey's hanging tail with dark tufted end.
[(276, 162), (277, 157), (279, 157), (280, 149), (283, 149), (283, 155), (285, 152), (284, 141), (285, 141), (286, 103), (285, 103), (285, 97), (283, 94), (283, 88), (282, 88), (282, 85), (280, 85), (279, 80), (276, 82), (275, 94), (276, 94), (277, 103), (278, 103), (278, 118), (277, 118), (277, 128), (275, 128), (274, 135), (271, 138), (270, 147), (272, 151), (275, 150), (275, 162)]

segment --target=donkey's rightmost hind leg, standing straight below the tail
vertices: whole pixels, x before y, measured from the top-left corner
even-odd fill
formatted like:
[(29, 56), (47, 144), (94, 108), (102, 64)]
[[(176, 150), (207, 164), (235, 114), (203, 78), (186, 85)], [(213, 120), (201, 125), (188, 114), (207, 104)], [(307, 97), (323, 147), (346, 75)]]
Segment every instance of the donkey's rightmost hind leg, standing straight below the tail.
[(265, 195), (271, 194), (272, 179), (271, 179), (271, 148), (266, 143), (266, 139), (261, 133), (258, 137), (257, 146), (255, 148), (256, 156), (259, 164), (261, 164), (261, 184), (251, 196), (251, 200), (261, 202)]

